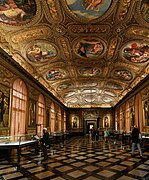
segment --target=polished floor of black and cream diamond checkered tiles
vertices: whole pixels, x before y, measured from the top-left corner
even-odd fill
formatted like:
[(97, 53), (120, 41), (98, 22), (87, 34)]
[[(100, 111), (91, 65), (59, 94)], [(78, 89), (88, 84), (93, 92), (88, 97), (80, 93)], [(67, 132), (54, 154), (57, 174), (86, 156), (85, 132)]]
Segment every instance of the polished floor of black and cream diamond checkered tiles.
[(121, 141), (71, 137), (50, 147), (46, 161), (42, 153), (23, 152), (19, 170), (1, 158), (0, 180), (149, 180), (149, 148), (142, 150), (143, 158), (138, 150), (132, 158), (131, 147)]

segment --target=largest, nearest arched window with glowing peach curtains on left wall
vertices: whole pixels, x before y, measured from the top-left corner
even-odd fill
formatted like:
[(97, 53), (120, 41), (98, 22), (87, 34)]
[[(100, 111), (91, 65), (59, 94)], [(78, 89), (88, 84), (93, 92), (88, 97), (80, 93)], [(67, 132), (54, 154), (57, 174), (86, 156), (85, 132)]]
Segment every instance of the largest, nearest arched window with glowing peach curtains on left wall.
[(21, 79), (16, 79), (12, 89), (12, 118), (10, 134), (25, 134), (27, 88)]

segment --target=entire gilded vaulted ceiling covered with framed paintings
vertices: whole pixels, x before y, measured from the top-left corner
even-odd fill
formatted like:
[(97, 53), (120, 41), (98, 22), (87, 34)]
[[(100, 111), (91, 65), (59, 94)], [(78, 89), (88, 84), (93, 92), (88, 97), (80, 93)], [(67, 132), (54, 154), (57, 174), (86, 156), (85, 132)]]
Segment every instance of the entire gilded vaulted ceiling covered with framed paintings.
[(149, 1), (1, 0), (0, 47), (67, 107), (113, 107), (149, 74)]

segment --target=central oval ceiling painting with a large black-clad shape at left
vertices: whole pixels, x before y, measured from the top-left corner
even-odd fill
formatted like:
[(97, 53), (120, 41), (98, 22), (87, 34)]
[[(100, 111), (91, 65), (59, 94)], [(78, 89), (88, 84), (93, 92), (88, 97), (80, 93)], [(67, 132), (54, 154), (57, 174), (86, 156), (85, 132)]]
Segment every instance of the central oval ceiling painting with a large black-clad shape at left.
[(83, 58), (96, 58), (103, 54), (105, 43), (99, 39), (84, 38), (74, 45), (74, 49), (75, 53)]

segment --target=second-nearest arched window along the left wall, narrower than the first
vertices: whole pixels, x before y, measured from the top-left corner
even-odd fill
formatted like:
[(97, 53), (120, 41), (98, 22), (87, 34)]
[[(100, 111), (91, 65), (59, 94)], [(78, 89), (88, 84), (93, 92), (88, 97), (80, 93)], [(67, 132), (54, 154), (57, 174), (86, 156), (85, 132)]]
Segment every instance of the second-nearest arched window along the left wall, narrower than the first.
[(37, 134), (42, 136), (42, 129), (44, 128), (45, 117), (45, 101), (42, 94), (38, 98), (38, 122), (37, 122)]

